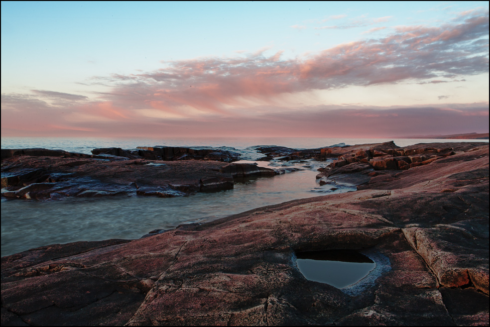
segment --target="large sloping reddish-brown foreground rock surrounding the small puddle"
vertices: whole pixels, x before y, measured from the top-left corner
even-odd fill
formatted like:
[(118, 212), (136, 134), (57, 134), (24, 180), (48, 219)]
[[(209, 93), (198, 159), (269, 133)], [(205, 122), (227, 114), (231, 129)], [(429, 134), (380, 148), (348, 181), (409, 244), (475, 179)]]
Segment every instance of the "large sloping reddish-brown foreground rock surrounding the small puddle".
[[(358, 192), (2, 257), (2, 325), (488, 325), (489, 146), (458, 146)], [(324, 249), (389, 268), (306, 280), (294, 253)]]

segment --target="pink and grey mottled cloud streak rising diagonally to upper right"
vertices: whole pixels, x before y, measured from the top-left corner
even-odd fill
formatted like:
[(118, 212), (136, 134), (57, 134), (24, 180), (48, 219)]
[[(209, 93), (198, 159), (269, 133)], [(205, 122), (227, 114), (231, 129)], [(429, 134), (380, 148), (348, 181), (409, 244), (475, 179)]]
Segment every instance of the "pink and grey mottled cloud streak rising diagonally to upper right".
[[(116, 106), (158, 109), (186, 115), (228, 114), (244, 103), (271, 104), (282, 95), (349, 86), (442, 83), (489, 70), (488, 12), (440, 27), (399, 26), (383, 38), (339, 45), (315, 55), (281, 59), (264, 50), (235, 58), (198, 58), (165, 62), (156, 71), (113, 75), (98, 82), (113, 85), (103, 97)], [(482, 42), (483, 41), (483, 42)]]

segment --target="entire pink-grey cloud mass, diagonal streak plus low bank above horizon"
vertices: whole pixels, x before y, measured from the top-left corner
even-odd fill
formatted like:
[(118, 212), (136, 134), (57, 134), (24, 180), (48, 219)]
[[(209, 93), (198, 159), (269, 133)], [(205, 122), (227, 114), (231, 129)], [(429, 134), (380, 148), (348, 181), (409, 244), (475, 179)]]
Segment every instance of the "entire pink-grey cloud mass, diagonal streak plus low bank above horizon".
[(1, 132), (199, 136), (216, 131), (216, 135), (236, 136), (352, 137), (364, 133), (384, 137), (398, 132), (488, 131), (488, 103), (464, 108), (444, 105), (455, 110), (359, 104), (312, 107), (308, 100), (294, 108), (288, 105), (291, 97), (318, 90), (448, 83), (488, 73), (488, 31), (488, 12), (470, 13), (456, 23), (398, 26), (385, 37), (292, 59), (283, 59), (281, 52), (266, 56), (268, 48), (264, 48), (233, 58), (168, 61), (154, 71), (96, 77), (92, 84), (110, 88), (94, 93), (96, 99), (46, 90), (2, 94)]

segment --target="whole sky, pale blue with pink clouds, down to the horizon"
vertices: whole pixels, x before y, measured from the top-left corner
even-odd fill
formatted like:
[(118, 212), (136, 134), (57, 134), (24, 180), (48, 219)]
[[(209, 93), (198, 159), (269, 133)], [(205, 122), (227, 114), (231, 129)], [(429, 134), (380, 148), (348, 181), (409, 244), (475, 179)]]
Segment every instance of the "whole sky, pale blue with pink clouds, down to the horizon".
[(1, 2), (1, 136), (489, 132), (488, 1)]

